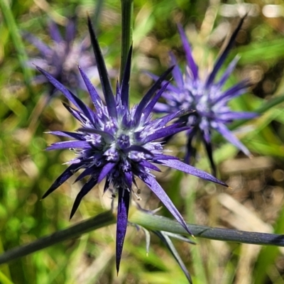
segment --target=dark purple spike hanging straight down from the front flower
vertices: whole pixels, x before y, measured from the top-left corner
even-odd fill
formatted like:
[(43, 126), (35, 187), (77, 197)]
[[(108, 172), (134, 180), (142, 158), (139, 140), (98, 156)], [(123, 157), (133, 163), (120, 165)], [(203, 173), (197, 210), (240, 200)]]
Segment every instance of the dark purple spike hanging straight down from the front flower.
[(129, 217), (130, 192), (119, 187), (119, 206), (117, 207), (116, 222), (116, 272), (119, 273), (122, 249)]

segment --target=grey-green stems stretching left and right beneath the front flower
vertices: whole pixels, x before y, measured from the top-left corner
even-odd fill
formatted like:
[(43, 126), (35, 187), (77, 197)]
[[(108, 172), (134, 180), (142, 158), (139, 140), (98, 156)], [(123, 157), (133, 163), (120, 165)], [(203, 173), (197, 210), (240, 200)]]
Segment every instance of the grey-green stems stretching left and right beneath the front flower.
[[(131, 208), (129, 212), (129, 222), (143, 226), (145, 229), (151, 231), (169, 231), (174, 234), (189, 235), (187, 231), (178, 223), (172, 219), (168, 219), (158, 215), (152, 215), (142, 212), (138, 209)], [(114, 214), (110, 211), (104, 212), (87, 219), (80, 224), (71, 226), (70, 228), (62, 231), (57, 231), (49, 236), (44, 236), (30, 244), (18, 246), (10, 251), (0, 255), (0, 264), (7, 263), (13, 259), (27, 256), (35, 251), (40, 251), (53, 244), (58, 244), (61, 241), (75, 238), (81, 234), (94, 231), (102, 228), (103, 226), (109, 226), (116, 223)], [(209, 226), (198, 226), (194, 224), (187, 224), (190, 231), (196, 238), (214, 239), (218, 241), (233, 241), (241, 244), (259, 244), (263, 246), (284, 246), (284, 235), (280, 234), (266, 234), (256, 233), (252, 231), (239, 231), (233, 229), (219, 229)]]

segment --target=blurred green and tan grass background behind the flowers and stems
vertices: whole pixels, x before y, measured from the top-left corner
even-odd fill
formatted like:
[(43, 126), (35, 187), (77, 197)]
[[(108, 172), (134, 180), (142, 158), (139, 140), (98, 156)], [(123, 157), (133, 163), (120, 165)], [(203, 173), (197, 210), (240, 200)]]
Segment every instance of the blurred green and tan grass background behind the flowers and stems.
[[(73, 131), (77, 124), (62, 106), (62, 97), (56, 96), (43, 106), (48, 86), (32, 84), (31, 78), (37, 73), (27, 67), (26, 60), (35, 57), (36, 50), (20, 35), (20, 31), (28, 31), (50, 43), (50, 19), (63, 27), (67, 18), (76, 15), (80, 39), (87, 35), (89, 13), (97, 23), (107, 67), (117, 77), (120, 1), (102, 2), (97, 17), (97, 1), (0, 0), (0, 251), (64, 229), (110, 206), (110, 194), (102, 197), (102, 186), (95, 187), (69, 221), (72, 202), (80, 188), (72, 179), (40, 201), (66, 168), (62, 164), (73, 155), (69, 151), (45, 151), (57, 139), (45, 132)], [(241, 60), (229, 84), (249, 77), (252, 87), (248, 94), (234, 99), (231, 107), (251, 111), (284, 96), (284, 1), (240, 4), (219, 0), (135, 0), (132, 103), (138, 102), (151, 85), (144, 71), (160, 75), (168, 67), (169, 50), (184, 65), (176, 23), (185, 26), (200, 72), (206, 72), (244, 9), (249, 16), (230, 54), (233, 58), (238, 53)], [(94, 83), (99, 84), (97, 80)], [(89, 102), (87, 94), (79, 95)], [(283, 104), (242, 124), (236, 134), (254, 158), (246, 158), (218, 135), (214, 137), (219, 175), (232, 189), (167, 170), (158, 175), (158, 180), (187, 222), (283, 234)], [(184, 142), (185, 137), (179, 134), (168, 148), (182, 157)], [(202, 147), (197, 167), (209, 171)], [(141, 185), (141, 189), (144, 208), (160, 206), (145, 186)], [(160, 214), (170, 217), (164, 209)], [(179, 241), (174, 244), (195, 284), (284, 283), (283, 249), (200, 239), (197, 246)], [(178, 264), (155, 236), (146, 256), (142, 230), (129, 226), (118, 276), (114, 250), (115, 226), (99, 229), (0, 266), (0, 283), (187, 283)]]

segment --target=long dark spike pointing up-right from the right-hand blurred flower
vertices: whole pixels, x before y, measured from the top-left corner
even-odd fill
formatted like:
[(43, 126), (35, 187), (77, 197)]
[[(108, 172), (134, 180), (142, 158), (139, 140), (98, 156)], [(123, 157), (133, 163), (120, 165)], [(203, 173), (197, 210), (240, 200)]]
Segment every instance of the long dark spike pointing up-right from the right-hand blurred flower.
[(246, 18), (246, 16), (241, 18), (241, 20), (239, 21), (239, 24), (236, 27), (234, 33), (232, 33), (231, 38), (229, 39), (229, 42), (226, 45), (226, 48), (224, 49), (223, 53), (219, 56), (217, 62), (215, 63), (212, 72), (210, 73), (209, 77), (207, 78), (207, 82), (205, 84), (206, 87), (208, 87), (210, 84), (212, 84), (212, 82), (214, 81), (214, 79), (217, 75), (217, 72), (219, 71), (219, 69), (222, 66), (222, 64), (224, 63), (224, 61), (226, 60), (226, 57), (227, 57), (229, 51), (231, 50), (231, 48), (234, 45), (234, 42), (236, 40), (236, 35), (239, 33), (239, 30), (241, 29), (241, 26), (244, 23), (245, 18)]

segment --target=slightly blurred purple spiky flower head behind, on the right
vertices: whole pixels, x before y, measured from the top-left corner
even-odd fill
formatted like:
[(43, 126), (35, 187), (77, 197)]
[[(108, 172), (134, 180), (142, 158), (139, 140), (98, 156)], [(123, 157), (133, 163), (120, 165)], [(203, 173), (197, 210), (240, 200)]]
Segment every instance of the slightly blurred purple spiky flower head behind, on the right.
[[(155, 111), (164, 113), (173, 113), (179, 109), (195, 110), (187, 116), (181, 116), (178, 120), (180, 122), (186, 122), (187, 126), (192, 126), (191, 129), (187, 131), (187, 153), (185, 155), (185, 162), (190, 163), (190, 157), (195, 155), (196, 150), (194, 143), (196, 143), (196, 141), (194, 141), (194, 139), (195, 136), (200, 135), (206, 148), (214, 175), (216, 175), (216, 167), (212, 157), (212, 129), (219, 131), (226, 140), (234, 144), (234, 146), (239, 148), (246, 155), (250, 155), (246, 146), (244, 146), (244, 144), (241, 143), (225, 125), (235, 119), (252, 119), (257, 116), (257, 114), (251, 112), (231, 111), (228, 106), (230, 99), (244, 94), (249, 86), (249, 81), (244, 80), (229, 89), (224, 89), (224, 84), (236, 67), (239, 57), (236, 56), (226, 68), (220, 79), (216, 79), (217, 72), (222, 67), (224, 60), (226, 60), (232, 45), (234, 45), (236, 35), (239, 32), (243, 21), (244, 18), (241, 18), (239, 25), (231, 35), (224, 51), (219, 55), (219, 58), (215, 62), (213, 70), (209, 72), (207, 77), (205, 77), (205, 80), (200, 79), (198, 67), (192, 57), (190, 43), (187, 41), (185, 32), (182, 30), (181, 26), (178, 26), (187, 60), (185, 74), (182, 74), (180, 68), (176, 65), (177, 62), (174, 55), (170, 54), (171, 61), (176, 65), (173, 69), (175, 84), (168, 84), (165, 92), (163, 92), (166, 103), (157, 103), (155, 106)], [(170, 137), (168, 137), (167, 140), (169, 140), (169, 138)]]

